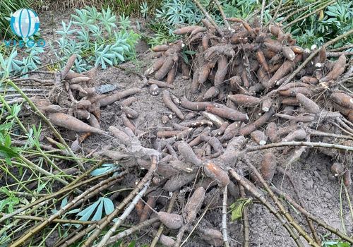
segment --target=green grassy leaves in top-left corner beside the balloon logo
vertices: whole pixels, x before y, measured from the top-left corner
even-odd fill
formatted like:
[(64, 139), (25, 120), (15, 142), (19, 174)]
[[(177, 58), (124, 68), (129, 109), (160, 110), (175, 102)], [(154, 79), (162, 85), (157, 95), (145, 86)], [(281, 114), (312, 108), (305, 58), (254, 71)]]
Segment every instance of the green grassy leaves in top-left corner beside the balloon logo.
[(0, 39), (13, 37), (8, 17), (20, 8), (30, 8), (30, 0), (1, 0), (0, 1)]

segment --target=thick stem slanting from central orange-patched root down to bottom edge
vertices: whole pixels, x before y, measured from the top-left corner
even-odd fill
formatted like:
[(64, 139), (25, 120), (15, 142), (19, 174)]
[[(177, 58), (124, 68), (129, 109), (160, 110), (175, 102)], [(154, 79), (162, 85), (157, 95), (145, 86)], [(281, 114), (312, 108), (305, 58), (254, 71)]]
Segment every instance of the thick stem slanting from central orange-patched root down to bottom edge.
[(229, 169), (229, 174), (231, 174), (235, 180), (237, 180), (237, 182), (243, 186), (244, 188), (246, 188), (247, 191), (249, 191), (250, 193), (252, 193), (258, 200), (261, 201), (261, 203), (263, 205), (265, 205), (265, 207), (268, 208), (268, 210), (270, 211), (270, 213), (272, 213), (273, 215), (275, 215), (275, 217), (281, 222), (282, 226), (285, 227), (285, 229), (288, 231), (289, 236), (292, 237), (292, 239), (295, 241), (295, 243), (297, 243), (297, 246), (300, 247), (304, 247), (304, 244), (301, 242), (301, 240), (299, 239), (299, 236), (297, 235), (297, 233), (294, 231), (294, 229), (292, 228), (292, 226), (282, 217), (282, 215), (280, 214), (280, 212), (278, 212), (275, 207), (273, 207), (273, 205), (271, 205), (268, 200), (266, 200), (266, 198), (263, 196), (262, 193), (260, 193), (258, 191), (258, 189), (253, 186), (253, 184), (251, 182), (249, 182), (247, 179), (245, 179), (244, 177), (241, 177), (239, 174), (237, 174), (236, 171), (234, 171), (234, 169)]

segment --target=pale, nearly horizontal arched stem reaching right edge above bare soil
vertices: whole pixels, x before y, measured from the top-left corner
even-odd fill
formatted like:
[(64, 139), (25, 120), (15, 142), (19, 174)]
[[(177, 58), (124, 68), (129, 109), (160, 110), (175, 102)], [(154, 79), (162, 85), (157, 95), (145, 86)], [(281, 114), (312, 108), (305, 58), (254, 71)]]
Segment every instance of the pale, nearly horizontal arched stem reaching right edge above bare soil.
[(286, 146), (326, 147), (326, 148), (335, 148), (338, 150), (353, 151), (353, 147), (349, 147), (345, 145), (292, 141), (287, 143), (270, 143), (262, 146), (246, 147), (244, 152), (253, 152), (253, 151), (264, 150), (272, 147), (286, 147)]

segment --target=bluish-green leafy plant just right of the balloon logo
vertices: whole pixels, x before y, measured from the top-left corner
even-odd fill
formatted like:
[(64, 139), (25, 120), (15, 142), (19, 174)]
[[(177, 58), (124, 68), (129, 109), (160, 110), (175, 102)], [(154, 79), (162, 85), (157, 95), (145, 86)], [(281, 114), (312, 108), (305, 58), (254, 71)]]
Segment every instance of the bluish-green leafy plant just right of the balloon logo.
[[(140, 36), (129, 30), (127, 17), (120, 16), (121, 29), (117, 30), (116, 16), (110, 8), (100, 12), (87, 6), (75, 12), (73, 20), (67, 24), (62, 22), (62, 29), (57, 31), (61, 38), (56, 41), (59, 49), (54, 54), (63, 61), (62, 64), (72, 54), (78, 54), (74, 67), (83, 72), (92, 66), (114, 66), (135, 55), (135, 44)], [(72, 25), (77, 29), (71, 29)]]

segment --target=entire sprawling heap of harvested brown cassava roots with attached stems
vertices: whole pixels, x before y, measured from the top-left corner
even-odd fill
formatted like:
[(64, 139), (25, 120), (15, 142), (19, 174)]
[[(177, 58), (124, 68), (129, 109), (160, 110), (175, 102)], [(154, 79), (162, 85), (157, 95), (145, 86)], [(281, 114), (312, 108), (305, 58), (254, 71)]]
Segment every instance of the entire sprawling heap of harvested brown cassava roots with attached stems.
[[(202, 26), (175, 30), (184, 35), (183, 40), (152, 48), (157, 59), (145, 71), (142, 88), (105, 95), (115, 88), (90, 87), (94, 69), (85, 74), (69, 71), (76, 59), (73, 55), (64, 70), (55, 74), (57, 87), (49, 100), (35, 101), (54, 125), (82, 133), (71, 145), (74, 150), (90, 133), (112, 133), (119, 150), (102, 150), (96, 155), (117, 160), (126, 169), (148, 169), (112, 215), (78, 229), (76, 236), (61, 243), (69, 246), (92, 231), (84, 244), (90, 246), (112, 223), (97, 246), (148, 226), (152, 226), (148, 231), (151, 246), (157, 241), (180, 246), (191, 234), (212, 246), (234, 246), (227, 235), (227, 207), (239, 198), (252, 198), (267, 207), (297, 246), (304, 246), (303, 241), (321, 246), (318, 226), (353, 243), (347, 234), (306, 211), (298, 194), (287, 195), (269, 185), (276, 173), (292, 181), (277, 160), (292, 164), (307, 148), (315, 147), (335, 161), (333, 176), (342, 178), (347, 188), (351, 186), (353, 95), (344, 83), (352, 80), (352, 64), (344, 53), (337, 61), (328, 60), (326, 45), (312, 50), (296, 46), (296, 40), (275, 24), (261, 27), (256, 22), (227, 18), (221, 28), (207, 13), (205, 16), (208, 19)], [(168, 90), (179, 71), (191, 78), (185, 83), (191, 83), (195, 97), (179, 99)], [(165, 89), (162, 100), (175, 114), (162, 116), (165, 126), (150, 133), (136, 128), (131, 119), (136, 119), (138, 112), (129, 108), (136, 100), (129, 96), (147, 85), (156, 97), (160, 88)], [(57, 92), (66, 92), (70, 104), (60, 102)], [(119, 100), (125, 126), (102, 131), (100, 108)], [(148, 138), (150, 145), (141, 145), (141, 138)], [(279, 197), (301, 212), (310, 231), (292, 217)], [(222, 227), (203, 219), (210, 207), (217, 206), (222, 207)], [(119, 220), (113, 222), (122, 210)], [(133, 210), (140, 223), (116, 234)], [(242, 213), (244, 246), (249, 246), (251, 215), (247, 210)]]

